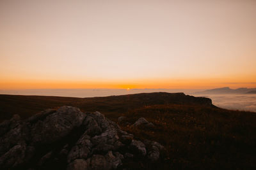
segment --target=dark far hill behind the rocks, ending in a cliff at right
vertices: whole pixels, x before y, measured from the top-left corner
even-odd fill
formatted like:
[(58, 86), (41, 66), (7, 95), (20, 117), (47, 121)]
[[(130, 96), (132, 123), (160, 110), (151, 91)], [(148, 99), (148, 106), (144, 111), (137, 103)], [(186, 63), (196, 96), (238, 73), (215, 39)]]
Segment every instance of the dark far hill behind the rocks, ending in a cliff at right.
[(102, 111), (102, 113), (127, 113), (135, 108), (153, 104), (206, 104), (212, 106), (211, 99), (204, 97), (186, 96), (184, 93), (142, 93), (108, 97), (52, 97), (52, 96), (16, 96), (0, 95), (0, 121), (19, 114), (21, 118), (47, 108), (58, 108), (63, 105), (76, 106), (84, 111)]

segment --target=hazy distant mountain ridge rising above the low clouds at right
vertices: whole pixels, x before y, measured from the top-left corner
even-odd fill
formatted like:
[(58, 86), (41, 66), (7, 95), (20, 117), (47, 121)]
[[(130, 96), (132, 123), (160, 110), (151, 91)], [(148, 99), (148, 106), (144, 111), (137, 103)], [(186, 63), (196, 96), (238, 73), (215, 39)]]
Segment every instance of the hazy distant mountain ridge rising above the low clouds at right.
[(222, 88), (218, 88), (218, 89), (205, 90), (202, 92), (195, 92), (195, 94), (246, 94), (251, 91), (256, 91), (256, 88), (254, 88), (254, 89), (248, 89), (248, 88), (230, 89), (229, 87), (222, 87)]

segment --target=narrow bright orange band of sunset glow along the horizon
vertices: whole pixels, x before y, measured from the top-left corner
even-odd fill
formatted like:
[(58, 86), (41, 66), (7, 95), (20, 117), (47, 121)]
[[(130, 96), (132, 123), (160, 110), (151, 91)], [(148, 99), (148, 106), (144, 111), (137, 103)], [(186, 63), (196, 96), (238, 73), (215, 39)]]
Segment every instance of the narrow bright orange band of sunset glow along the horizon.
[[(247, 81), (246, 81), (247, 80)], [(249, 80), (249, 81), (248, 81)], [(250, 81), (251, 80), (251, 81)], [(212, 89), (218, 87), (255, 88), (256, 82), (243, 78), (232, 79), (184, 79), (184, 80), (112, 80), (112, 81), (68, 81), (68, 80), (9, 80), (0, 81), (0, 89)]]

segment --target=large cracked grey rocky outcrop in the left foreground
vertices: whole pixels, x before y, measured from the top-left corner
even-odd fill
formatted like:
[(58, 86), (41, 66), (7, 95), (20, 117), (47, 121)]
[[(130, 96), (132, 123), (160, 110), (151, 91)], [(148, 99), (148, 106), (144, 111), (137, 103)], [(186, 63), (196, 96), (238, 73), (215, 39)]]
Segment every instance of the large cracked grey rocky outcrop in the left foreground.
[(63, 106), (0, 124), (0, 169), (118, 169), (150, 164), (163, 146), (140, 141), (99, 112)]

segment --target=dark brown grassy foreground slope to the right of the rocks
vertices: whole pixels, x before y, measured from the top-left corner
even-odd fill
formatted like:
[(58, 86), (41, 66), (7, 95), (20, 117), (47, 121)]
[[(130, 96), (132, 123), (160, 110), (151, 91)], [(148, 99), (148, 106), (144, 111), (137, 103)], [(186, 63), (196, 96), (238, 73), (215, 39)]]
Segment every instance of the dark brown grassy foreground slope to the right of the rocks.
[[(253, 169), (256, 167), (256, 115), (196, 105), (153, 105), (126, 115), (145, 117), (156, 127), (131, 129), (141, 139), (154, 139), (167, 149), (161, 169)], [(159, 167), (160, 168), (160, 167)]]

